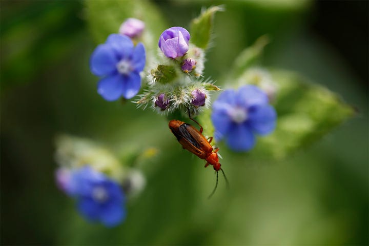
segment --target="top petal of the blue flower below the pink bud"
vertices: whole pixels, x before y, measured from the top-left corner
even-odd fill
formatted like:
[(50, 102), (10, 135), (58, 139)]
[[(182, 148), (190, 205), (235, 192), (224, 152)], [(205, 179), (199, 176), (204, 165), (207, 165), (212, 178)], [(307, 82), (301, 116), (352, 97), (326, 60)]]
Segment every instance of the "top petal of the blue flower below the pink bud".
[(132, 40), (121, 34), (110, 34), (106, 40), (106, 44), (110, 45), (117, 55), (118, 59), (131, 57), (133, 52)]

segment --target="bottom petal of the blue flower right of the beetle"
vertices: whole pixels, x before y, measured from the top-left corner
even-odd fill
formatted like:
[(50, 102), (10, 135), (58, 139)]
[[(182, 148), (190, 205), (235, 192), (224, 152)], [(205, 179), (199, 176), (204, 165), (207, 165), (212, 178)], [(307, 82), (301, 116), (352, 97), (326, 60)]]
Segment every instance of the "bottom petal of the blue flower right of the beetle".
[(233, 151), (248, 151), (255, 145), (255, 137), (245, 124), (233, 124), (228, 132), (227, 145)]

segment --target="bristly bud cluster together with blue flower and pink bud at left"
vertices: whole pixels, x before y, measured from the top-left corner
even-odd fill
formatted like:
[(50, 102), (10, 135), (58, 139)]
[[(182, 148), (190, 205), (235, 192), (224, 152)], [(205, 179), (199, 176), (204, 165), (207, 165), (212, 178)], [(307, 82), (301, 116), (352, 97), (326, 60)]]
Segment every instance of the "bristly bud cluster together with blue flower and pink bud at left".
[[(142, 43), (134, 46), (133, 42), (137, 42), (144, 29), (144, 22), (128, 18), (121, 24), (119, 34), (111, 34), (92, 53), (91, 72), (100, 77), (97, 92), (104, 99), (131, 99), (140, 91), (146, 51)], [(138, 107), (151, 106), (166, 114), (190, 109), (197, 114), (210, 105), (209, 91), (219, 88), (202, 78), (204, 50), (191, 44), (190, 38), (183, 27), (171, 27), (161, 33), (158, 39), (161, 54), (146, 75), (148, 83), (136, 101)]]

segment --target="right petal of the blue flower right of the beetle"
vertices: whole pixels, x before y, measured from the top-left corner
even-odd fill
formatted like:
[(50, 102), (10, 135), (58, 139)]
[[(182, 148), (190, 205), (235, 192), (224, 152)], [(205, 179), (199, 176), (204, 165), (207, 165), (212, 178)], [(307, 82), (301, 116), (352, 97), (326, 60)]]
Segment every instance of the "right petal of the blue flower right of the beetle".
[(260, 135), (271, 133), (275, 129), (277, 113), (270, 105), (251, 108), (248, 117), (250, 126)]

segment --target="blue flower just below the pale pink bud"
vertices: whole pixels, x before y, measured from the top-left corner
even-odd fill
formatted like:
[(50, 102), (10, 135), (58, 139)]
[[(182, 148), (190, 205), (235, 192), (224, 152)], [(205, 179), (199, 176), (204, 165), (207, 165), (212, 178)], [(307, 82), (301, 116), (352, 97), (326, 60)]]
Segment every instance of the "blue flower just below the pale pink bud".
[(139, 72), (144, 70), (145, 63), (142, 43), (134, 47), (128, 36), (111, 34), (91, 55), (91, 72), (101, 77), (97, 92), (108, 101), (120, 96), (134, 97), (141, 88)]

